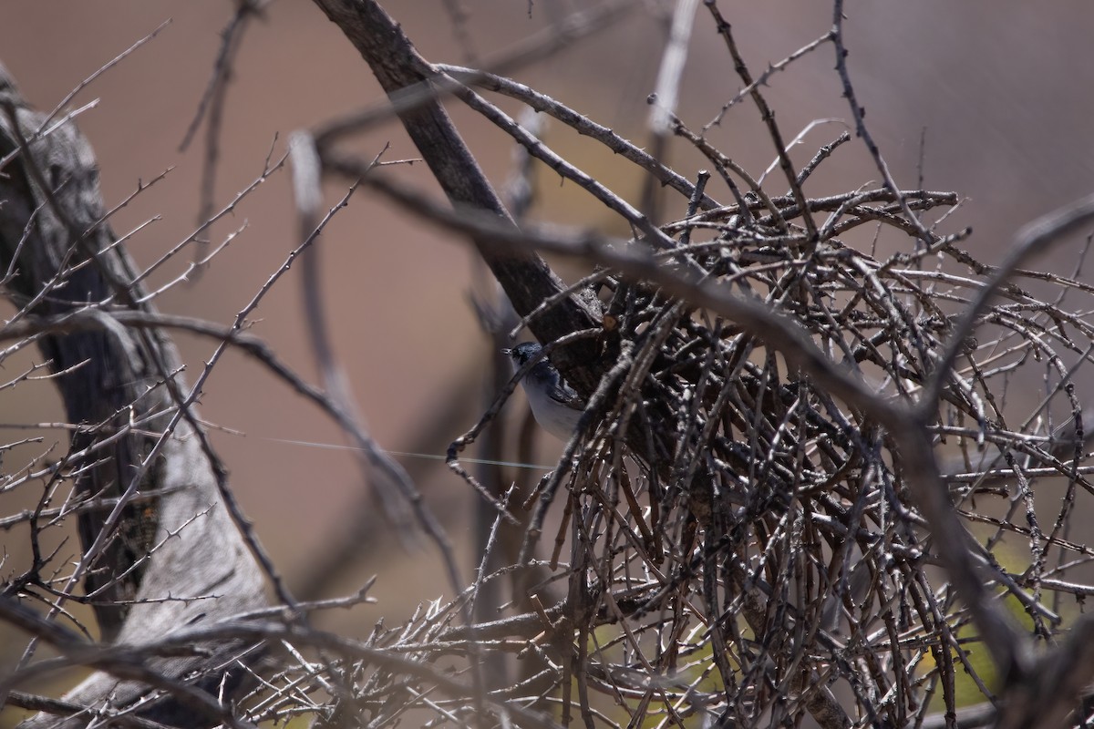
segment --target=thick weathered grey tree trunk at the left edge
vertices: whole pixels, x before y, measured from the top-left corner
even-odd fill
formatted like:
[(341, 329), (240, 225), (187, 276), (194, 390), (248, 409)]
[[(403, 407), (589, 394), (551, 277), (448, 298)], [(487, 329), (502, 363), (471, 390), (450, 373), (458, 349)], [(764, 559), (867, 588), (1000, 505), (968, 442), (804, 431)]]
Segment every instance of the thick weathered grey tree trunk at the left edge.
[[(43, 129), (45, 120), (45, 115), (26, 106), (0, 67), (0, 158), (12, 155), (0, 174), (0, 268), (7, 270), (18, 252), (18, 275), (4, 293), (25, 314), (57, 317), (84, 307), (102, 313), (101, 330), (47, 336), (39, 344), (53, 369), (63, 373), (54, 381), (68, 421), (81, 426), (72, 437), (73, 452), (130, 423), (140, 424), (139, 432), (116, 438), (91, 457), (102, 462), (78, 478), (78, 490), (119, 496), (139, 477), (139, 491), (167, 492), (153, 502), (126, 507), (83, 586), (89, 593), (101, 590), (95, 614), (104, 640), (152, 643), (178, 627), (265, 605), (264, 580), (186, 419), (177, 422), (153, 462), (142, 467), (158, 434), (177, 412), (164, 380), (172, 378), (177, 391), (187, 392), (176, 374), (179, 357), (162, 331), (127, 329), (110, 318), (112, 308), (148, 310), (150, 305), (133, 304), (142, 292), (132, 283), (132, 266), (124, 248), (112, 247), (115, 235), (101, 220), (98, 171), (90, 144), (72, 121), (54, 129), (50, 126), (56, 121), (50, 121)], [(70, 270), (89, 261), (75, 272)], [(42, 296), (47, 289), (48, 295)], [(79, 363), (83, 364), (74, 366)], [(104, 509), (80, 516), (84, 550), (100, 537), (108, 515), (109, 509)], [(210, 670), (241, 645), (201, 648), (206, 655), (149, 660), (144, 668), (167, 679), (203, 673), (199, 685), (216, 691), (224, 670)], [(95, 673), (66, 701), (95, 707), (109, 696), (112, 706), (119, 707), (148, 691), (140, 683)], [(141, 715), (181, 727), (212, 722), (173, 697)], [(85, 724), (86, 716), (58, 725), (57, 717), (39, 715), (24, 726)]]

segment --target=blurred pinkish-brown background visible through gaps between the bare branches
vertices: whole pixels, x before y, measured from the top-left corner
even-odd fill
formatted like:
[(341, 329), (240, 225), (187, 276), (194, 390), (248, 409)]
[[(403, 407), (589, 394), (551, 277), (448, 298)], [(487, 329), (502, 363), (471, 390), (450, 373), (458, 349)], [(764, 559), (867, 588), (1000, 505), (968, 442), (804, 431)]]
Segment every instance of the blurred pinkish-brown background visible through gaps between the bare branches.
[[(444, 3), (405, 0), (386, 4), (427, 58), (465, 60)], [(582, 4), (538, 0), (529, 17), (523, 0), (464, 2), (474, 49), (485, 57), (543, 31)], [(719, 4), (734, 23), (756, 73), (821, 36), (831, 23), (830, 8), (823, 2)], [(645, 97), (653, 87), (668, 9), (668, 3), (636, 2), (606, 32), (513, 75), (644, 143)], [(220, 31), (231, 11), (223, 0), (9, 0), (0, 8), (0, 61), (31, 103), (43, 109), (53, 108), (82, 79), (172, 19), (159, 37), (74, 102), (100, 99), (96, 108), (80, 117), (79, 125), (98, 155), (108, 207), (135, 190), (138, 180), (175, 167), (113, 220), (121, 234), (158, 216), (129, 243), (132, 256), (143, 264), (196, 225), (201, 136), (186, 153), (178, 146), (210, 77)], [(924, 187), (955, 190), (967, 198), (947, 230), (973, 226), (975, 235), (968, 245), (982, 259), (998, 260), (1013, 232), (1033, 216), (1094, 189), (1090, 122), (1094, 8), (1089, 3), (876, 0), (848, 3), (847, 14), (852, 81), (893, 174), (903, 187), (917, 186), (920, 140), (926, 138)], [(833, 67), (833, 49), (825, 46), (770, 80), (767, 98), (788, 140), (813, 119), (848, 119)], [(700, 8), (679, 115), (698, 129), (738, 87), (724, 46)], [(271, 145), (280, 154), (292, 130), (314, 127), (381, 97), (369, 69), (312, 3), (272, 2), (266, 19), (247, 30), (235, 68), (221, 141), (218, 207), (261, 172)], [(503, 106), (519, 110), (513, 104)], [(454, 116), (488, 175), (501, 185), (510, 173), (508, 138), (462, 109), (455, 108)], [(843, 128), (839, 122), (819, 126), (795, 148), (795, 161), (804, 163)], [(548, 144), (638, 201), (641, 178), (632, 168), (557, 124), (546, 133)], [(748, 103), (732, 109), (710, 136), (755, 175), (773, 160), (758, 114)], [(385, 142), (391, 142), (388, 158), (416, 155), (395, 124), (356, 144), (371, 157)], [(673, 145), (672, 163), (688, 177), (706, 166), (679, 143)], [(842, 148), (826, 163), (824, 173), (814, 187), (806, 188), (807, 193), (853, 189), (878, 179), (861, 143)], [(399, 174), (435, 192), (423, 165)], [(542, 197), (534, 217), (614, 225), (574, 186), (559, 185), (550, 173), (539, 181)], [(334, 203), (345, 187), (328, 185), (327, 201)], [(783, 187), (775, 185), (778, 190)], [(710, 191), (729, 199), (717, 181)], [(684, 201), (671, 199), (668, 210), (672, 216), (683, 214)], [(162, 296), (161, 309), (230, 322), (298, 245), (292, 211), (288, 175), (279, 173), (213, 228), (217, 244), (247, 224), (197, 284), (176, 286)], [(477, 371), (484, 367), (488, 343), (466, 303), (470, 254), (464, 242), (408, 220), (366, 191), (359, 192), (335, 219), (322, 245), (324, 295), (334, 313), (337, 352), (352, 377), (360, 408), (381, 444), (407, 450), (430, 427), (431, 412), (446, 393), (480, 387)], [(1067, 270), (1076, 255), (1074, 249), (1063, 249), (1057, 261), (1043, 264)], [(176, 275), (190, 256), (184, 254), (156, 281)], [(266, 297), (253, 318), (260, 320), (255, 333), (314, 380), (295, 272)], [(179, 344), (193, 380), (214, 344), (188, 337), (179, 337)], [(38, 358), (37, 352), (20, 362), (32, 358)], [(9, 361), (4, 367), (13, 376), (19, 364)], [(278, 438), (341, 445), (340, 434), (261, 367), (234, 353), (209, 380), (201, 413), (226, 428), (214, 433), (214, 443), (263, 542), (290, 586), (303, 583), (317, 555), (350, 516), (347, 507), (358, 502), (362, 485), (349, 454)], [(468, 411), (444, 439), (432, 445), (433, 452), (443, 452), (447, 439), (476, 418), (476, 412)], [(4, 424), (60, 419), (48, 384), (0, 391), (0, 422)], [(60, 437), (50, 431), (46, 445)], [(557, 447), (554, 443), (545, 446)], [(38, 446), (35, 452), (43, 449)], [(540, 461), (549, 462), (549, 455)], [(5, 471), (21, 462), (9, 457)], [(440, 463), (429, 467), (419, 485), (453, 539), (463, 545), (469, 573), (466, 545), (474, 495)], [(0, 512), (11, 513), (10, 497), (8, 503), (0, 495)], [(18, 568), (19, 555), (26, 551), (23, 540), (25, 532), (20, 530), (0, 532), (0, 548), (13, 561), (5, 571)], [(365, 576), (380, 574), (373, 595), (381, 603), (366, 609), (370, 621), (401, 614), (418, 601), (449, 592), (437, 576), (431, 551), (407, 555), (389, 538), (365, 549), (359, 569), (339, 589), (351, 590)]]

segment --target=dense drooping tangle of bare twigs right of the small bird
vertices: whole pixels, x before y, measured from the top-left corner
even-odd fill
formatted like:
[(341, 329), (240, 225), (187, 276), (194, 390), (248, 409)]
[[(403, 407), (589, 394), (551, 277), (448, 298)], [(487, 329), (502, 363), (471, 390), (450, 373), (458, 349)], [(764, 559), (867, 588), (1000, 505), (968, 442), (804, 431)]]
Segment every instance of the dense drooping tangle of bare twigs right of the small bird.
[[(816, 236), (793, 196), (753, 199), (666, 225), (678, 246), (659, 257), (792, 318), (877, 397), (915, 398), (990, 269), (961, 234), (924, 243), (900, 214), (907, 204), (944, 216), (953, 195), (901, 196), (810, 199)], [(898, 252), (841, 243), (860, 227)], [(970, 692), (990, 696), (988, 651), (936, 568), (936, 552), (956, 545), (923, 531), (892, 437), (732, 321), (655, 283), (594, 278), (619, 364), (532, 518), (529, 539), (548, 505), (565, 512), (550, 566), (568, 620), (543, 627), (567, 631), (575, 651), (544, 696), (559, 690), (569, 706), (572, 680), (590, 716), (601, 706), (610, 725), (610, 697), (613, 710), (660, 726), (695, 726), (696, 715), (907, 726)], [(1089, 485), (1081, 419), (1063, 421), (1079, 414), (1067, 380), (1091, 327), (1017, 285), (1004, 296), (930, 430), (992, 589), (1049, 638), (1089, 589), (1067, 577), (1091, 551), (1067, 538)], [(1010, 424), (1008, 381), (1046, 365), (1048, 397)], [(1068, 498), (1043, 529), (1029, 486), (1046, 477), (1067, 479)]]

